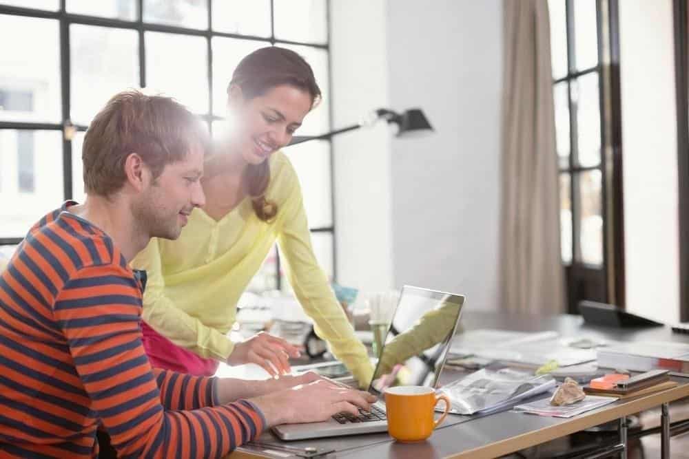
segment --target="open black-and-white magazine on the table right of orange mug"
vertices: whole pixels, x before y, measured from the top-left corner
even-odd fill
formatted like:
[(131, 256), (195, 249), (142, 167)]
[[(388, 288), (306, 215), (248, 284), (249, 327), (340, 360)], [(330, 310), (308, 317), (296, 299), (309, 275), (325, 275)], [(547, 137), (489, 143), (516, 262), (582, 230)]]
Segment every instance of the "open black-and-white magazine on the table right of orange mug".
[(449, 397), (451, 413), (475, 414), (489, 413), (504, 407), (511, 407), (517, 401), (542, 394), (555, 387), (555, 379), (544, 374), (502, 370), (478, 370), (464, 378), (440, 387)]

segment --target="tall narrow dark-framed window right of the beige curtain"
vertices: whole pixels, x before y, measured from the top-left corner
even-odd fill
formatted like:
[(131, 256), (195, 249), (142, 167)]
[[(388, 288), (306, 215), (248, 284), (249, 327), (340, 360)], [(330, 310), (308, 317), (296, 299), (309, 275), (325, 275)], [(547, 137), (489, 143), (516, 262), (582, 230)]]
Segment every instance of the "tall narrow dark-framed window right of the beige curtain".
[(582, 299), (624, 306), (617, 0), (548, 8), (568, 310)]

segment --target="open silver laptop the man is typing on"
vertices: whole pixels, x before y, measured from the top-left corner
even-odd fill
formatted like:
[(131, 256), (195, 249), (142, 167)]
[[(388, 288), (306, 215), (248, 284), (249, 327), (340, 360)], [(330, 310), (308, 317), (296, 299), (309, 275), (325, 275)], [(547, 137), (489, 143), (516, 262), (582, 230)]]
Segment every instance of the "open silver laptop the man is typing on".
[(387, 431), (382, 393), (395, 385), (434, 387), (455, 334), (464, 296), (404, 286), (380, 359), (369, 384), (378, 397), (371, 412), (359, 416), (336, 414), (321, 423), (283, 424), (273, 427), (282, 440), (304, 440), (330, 436)]

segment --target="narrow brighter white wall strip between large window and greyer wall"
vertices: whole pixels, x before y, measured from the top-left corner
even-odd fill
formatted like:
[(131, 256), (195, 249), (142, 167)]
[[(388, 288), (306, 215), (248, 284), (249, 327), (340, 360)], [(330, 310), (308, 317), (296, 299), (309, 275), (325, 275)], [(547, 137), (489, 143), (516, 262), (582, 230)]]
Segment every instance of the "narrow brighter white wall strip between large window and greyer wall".
[[(388, 107), (387, 2), (330, 2), (333, 127)], [(338, 281), (393, 287), (390, 135), (384, 123), (333, 138)]]

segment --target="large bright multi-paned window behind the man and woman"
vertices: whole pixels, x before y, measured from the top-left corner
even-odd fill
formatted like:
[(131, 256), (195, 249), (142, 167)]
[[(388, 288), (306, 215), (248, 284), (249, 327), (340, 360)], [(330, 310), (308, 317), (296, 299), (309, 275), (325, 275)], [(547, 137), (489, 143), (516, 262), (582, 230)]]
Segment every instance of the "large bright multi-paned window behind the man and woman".
[[(10, 203), (0, 208), (0, 249), (11, 252), (63, 200), (83, 200), (84, 132), (128, 87), (174, 96), (220, 131), (240, 58), (280, 45), (309, 61), (324, 94), (298, 134), (329, 131), (327, 11), (328, 0), (0, 0), (0, 43), (14, 43), (0, 52), (0, 200)], [(330, 142), (285, 153), (305, 192), (316, 256), (332, 277)], [(281, 288), (280, 271), (273, 250), (251, 288)]]

